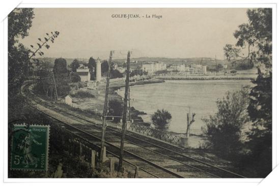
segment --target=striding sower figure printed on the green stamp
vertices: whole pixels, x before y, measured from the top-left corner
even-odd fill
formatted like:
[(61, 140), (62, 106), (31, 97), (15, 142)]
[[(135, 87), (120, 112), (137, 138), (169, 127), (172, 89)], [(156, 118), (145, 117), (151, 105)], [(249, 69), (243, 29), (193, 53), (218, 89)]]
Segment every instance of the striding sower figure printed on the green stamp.
[(36, 145), (42, 145), (42, 143), (39, 143), (38, 141), (35, 140), (35, 138), (38, 138), (38, 135), (35, 135), (32, 133), (31, 130), (29, 130), (29, 133), (24, 137), (20, 144), (20, 149), (23, 150), (24, 154), (24, 160), (23, 164), (25, 164), (25, 167), (29, 167), (29, 165), (35, 165), (35, 168), (38, 166), (38, 161), (39, 159), (36, 158), (33, 153), (32, 153), (32, 144), (33, 142)]

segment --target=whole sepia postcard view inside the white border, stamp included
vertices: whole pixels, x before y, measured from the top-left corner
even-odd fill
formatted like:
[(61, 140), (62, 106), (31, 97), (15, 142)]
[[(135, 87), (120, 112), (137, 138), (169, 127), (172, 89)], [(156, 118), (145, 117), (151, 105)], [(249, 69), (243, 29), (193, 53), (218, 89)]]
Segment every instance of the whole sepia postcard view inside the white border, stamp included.
[(8, 178), (265, 178), (272, 8), (15, 8), (5, 99)]

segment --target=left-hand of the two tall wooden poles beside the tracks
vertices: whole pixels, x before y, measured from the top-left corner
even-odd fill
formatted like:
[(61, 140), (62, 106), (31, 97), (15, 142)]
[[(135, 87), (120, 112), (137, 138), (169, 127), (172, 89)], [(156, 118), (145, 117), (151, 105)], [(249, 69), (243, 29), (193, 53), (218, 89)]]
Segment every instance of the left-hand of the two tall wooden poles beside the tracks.
[(103, 116), (102, 116), (102, 135), (101, 135), (101, 145), (100, 145), (100, 156), (99, 156), (99, 163), (100, 168), (102, 169), (102, 162), (104, 156), (104, 144), (105, 144), (105, 132), (106, 132), (106, 116), (107, 116), (107, 102), (108, 102), (108, 93), (109, 93), (109, 82), (110, 82), (110, 64), (112, 60), (113, 50), (110, 51), (110, 57), (108, 61), (108, 73), (106, 78), (106, 91), (105, 91), (105, 101), (104, 101), (104, 108), (103, 108)]

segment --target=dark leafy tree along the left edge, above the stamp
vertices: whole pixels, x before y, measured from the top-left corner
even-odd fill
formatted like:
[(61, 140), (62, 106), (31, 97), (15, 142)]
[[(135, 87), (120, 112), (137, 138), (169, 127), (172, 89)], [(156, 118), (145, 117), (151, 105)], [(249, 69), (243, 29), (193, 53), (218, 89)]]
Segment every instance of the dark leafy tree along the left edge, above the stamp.
[(14, 9), (8, 15), (8, 118), (9, 122), (23, 117), (23, 105), (20, 87), (29, 75), (31, 63), (30, 50), (18, 42), (18, 38), (29, 35), (34, 18), (33, 9)]

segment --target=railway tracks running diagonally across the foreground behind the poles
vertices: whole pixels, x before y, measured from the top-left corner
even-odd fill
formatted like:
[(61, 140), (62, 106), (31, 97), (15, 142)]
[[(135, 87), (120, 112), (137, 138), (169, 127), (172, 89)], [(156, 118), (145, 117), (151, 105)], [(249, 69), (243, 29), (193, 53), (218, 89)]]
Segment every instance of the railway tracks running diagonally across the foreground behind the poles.
[[(44, 105), (44, 107), (47, 107), (51, 110), (54, 110), (55, 112), (61, 113), (65, 115), (66, 117), (69, 117), (73, 120), (78, 121), (82, 124), (77, 124), (75, 126), (72, 125), (72, 127), (79, 129), (80, 133), (87, 131), (87, 133), (90, 132), (92, 135), (89, 137), (95, 137), (96, 139), (100, 140), (101, 137), (101, 121), (98, 121), (96, 119), (91, 119), (87, 117), (81, 117), (80, 115), (77, 115), (68, 109), (59, 107), (57, 105), (51, 104), (46, 102), (45, 100), (41, 98), (34, 97), (33, 100), (36, 100), (35, 102), (41, 105)], [(66, 123), (66, 125), (69, 125)], [(200, 175), (200, 177), (223, 177), (223, 178), (237, 178), (237, 177), (244, 177), (242, 175), (236, 174), (234, 172), (231, 172), (226, 169), (219, 168), (217, 166), (211, 165), (209, 163), (206, 163), (204, 161), (194, 159), (190, 156), (186, 156), (183, 153), (180, 153), (181, 149), (178, 147), (178, 149), (174, 149), (173, 145), (160, 143), (157, 140), (152, 140), (151, 138), (143, 139), (143, 136), (139, 138), (139, 135), (133, 132), (127, 131), (128, 134), (125, 135), (126, 141), (125, 141), (125, 157), (126, 159), (129, 159), (130, 162), (133, 162), (133, 164), (137, 165), (137, 161), (135, 159), (139, 160), (142, 159), (142, 162), (146, 162), (149, 165), (152, 165), (154, 167), (157, 167), (158, 169), (165, 170), (165, 172), (169, 172), (172, 176), (170, 177), (193, 177), (194, 175)], [(120, 144), (120, 138), (121, 138), (121, 131), (117, 128), (109, 127), (106, 128), (106, 143), (109, 147), (107, 147), (107, 150), (110, 151), (113, 154), (118, 154), (118, 148)], [(113, 148), (114, 147), (114, 148)], [(145, 153), (143, 153), (145, 152)], [(164, 154), (163, 154), (164, 152)], [(137, 155), (140, 154), (140, 155)], [(134, 157), (134, 158), (131, 158)], [(161, 165), (160, 161), (161, 159), (168, 160), (170, 162), (170, 165), (166, 165), (164, 162)], [(157, 164), (153, 163), (157, 162)], [(151, 167), (147, 165), (139, 165), (138, 167), (141, 167), (144, 170), (148, 170), (147, 172), (150, 172), (155, 177), (164, 177), (166, 175), (157, 175), (157, 172), (153, 171)], [(176, 168), (174, 167), (176, 166)], [(177, 172), (174, 170), (177, 169)], [(178, 171), (179, 170), (179, 171)], [(198, 177), (198, 176), (195, 176)]]

